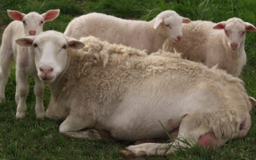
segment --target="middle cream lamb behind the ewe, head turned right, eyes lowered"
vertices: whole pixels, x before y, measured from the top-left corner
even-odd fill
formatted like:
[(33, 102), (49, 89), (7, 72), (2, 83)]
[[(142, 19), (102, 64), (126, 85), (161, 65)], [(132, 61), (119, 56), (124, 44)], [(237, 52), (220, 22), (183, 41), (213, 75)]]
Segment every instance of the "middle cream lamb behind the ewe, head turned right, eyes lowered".
[(190, 19), (179, 16), (173, 10), (161, 12), (149, 22), (90, 13), (73, 19), (64, 34), (76, 39), (95, 36), (101, 41), (127, 45), (151, 53), (160, 49), (167, 38), (181, 41), (181, 23), (189, 22)]

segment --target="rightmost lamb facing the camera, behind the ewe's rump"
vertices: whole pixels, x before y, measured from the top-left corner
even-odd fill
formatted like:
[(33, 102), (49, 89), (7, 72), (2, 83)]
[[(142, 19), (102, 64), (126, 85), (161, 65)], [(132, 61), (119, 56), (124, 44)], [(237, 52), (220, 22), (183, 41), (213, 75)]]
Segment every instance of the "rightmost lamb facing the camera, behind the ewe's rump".
[(208, 67), (217, 65), (238, 77), (246, 65), (246, 31), (255, 32), (256, 28), (235, 17), (220, 23), (192, 21), (182, 26), (183, 41), (166, 41), (163, 48), (166, 51), (175, 48), (183, 53), (183, 58), (203, 62)]

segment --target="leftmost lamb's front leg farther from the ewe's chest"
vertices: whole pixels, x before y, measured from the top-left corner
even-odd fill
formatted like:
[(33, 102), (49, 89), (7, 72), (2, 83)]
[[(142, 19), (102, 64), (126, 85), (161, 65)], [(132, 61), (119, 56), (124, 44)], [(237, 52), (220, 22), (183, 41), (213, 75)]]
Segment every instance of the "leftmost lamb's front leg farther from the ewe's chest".
[(16, 118), (26, 117), (26, 98), (28, 96), (28, 76), (23, 72), (23, 70), (17, 69), (17, 95), (19, 95), (19, 103), (17, 106)]

